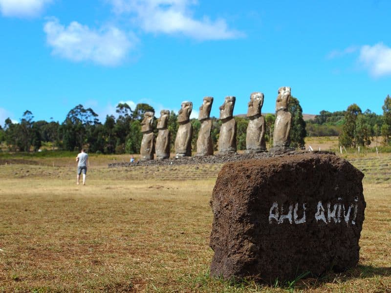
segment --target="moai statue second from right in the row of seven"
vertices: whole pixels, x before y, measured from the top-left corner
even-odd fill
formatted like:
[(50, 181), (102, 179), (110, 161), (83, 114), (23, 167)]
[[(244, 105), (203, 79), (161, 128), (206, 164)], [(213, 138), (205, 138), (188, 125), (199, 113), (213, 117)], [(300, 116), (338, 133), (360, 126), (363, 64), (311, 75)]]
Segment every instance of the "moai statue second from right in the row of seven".
[(266, 151), (265, 118), (261, 115), (264, 96), (260, 92), (250, 95), (247, 117), (249, 118), (246, 132), (246, 153)]

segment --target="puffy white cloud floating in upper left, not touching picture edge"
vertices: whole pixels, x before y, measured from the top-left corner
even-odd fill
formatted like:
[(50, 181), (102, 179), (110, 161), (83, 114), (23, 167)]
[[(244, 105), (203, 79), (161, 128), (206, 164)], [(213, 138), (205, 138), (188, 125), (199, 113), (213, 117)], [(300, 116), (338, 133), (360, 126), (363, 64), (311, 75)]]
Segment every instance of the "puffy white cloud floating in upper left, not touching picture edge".
[(52, 18), (44, 24), (43, 30), (47, 43), (53, 48), (52, 53), (75, 62), (118, 65), (137, 42), (134, 35), (110, 25), (94, 30), (72, 21), (65, 27)]

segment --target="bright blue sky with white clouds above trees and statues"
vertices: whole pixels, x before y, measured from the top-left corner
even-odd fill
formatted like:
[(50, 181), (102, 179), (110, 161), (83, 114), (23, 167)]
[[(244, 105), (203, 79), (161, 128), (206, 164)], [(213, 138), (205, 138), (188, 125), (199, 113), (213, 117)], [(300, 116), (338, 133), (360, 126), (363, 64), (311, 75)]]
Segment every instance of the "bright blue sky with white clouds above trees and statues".
[[(391, 1), (0, 0), (0, 124), (60, 123), (78, 104), (104, 122), (119, 102), (177, 111), (251, 92), (274, 112), (291, 86), (304, 113), (391, 94)], [(155, 116), (159, 116), (156, 113)]]

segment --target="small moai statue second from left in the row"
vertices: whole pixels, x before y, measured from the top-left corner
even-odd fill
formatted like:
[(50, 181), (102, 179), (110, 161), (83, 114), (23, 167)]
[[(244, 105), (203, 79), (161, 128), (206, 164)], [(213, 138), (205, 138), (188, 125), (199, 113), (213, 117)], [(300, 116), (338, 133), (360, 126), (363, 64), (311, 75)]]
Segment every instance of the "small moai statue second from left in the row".
[(155, 146), (157, 160), (168, 159), (170, 157), (170, 130), (167, 128), (169, 118), (169, 110), (160, 111), (160, 118), (157, 120), (158, 133)]

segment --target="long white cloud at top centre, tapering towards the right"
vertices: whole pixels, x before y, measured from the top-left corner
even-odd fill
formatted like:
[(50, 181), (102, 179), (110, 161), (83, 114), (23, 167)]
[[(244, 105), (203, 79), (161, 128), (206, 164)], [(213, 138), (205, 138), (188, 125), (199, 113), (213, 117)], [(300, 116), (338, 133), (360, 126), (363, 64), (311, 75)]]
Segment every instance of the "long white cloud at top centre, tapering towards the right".
[(109, 0), (117, 14), (129, 14), (149, 33), (183, 34), (196, 40), (224, 40), (244, 36), (229, 29), (224, 19), (195, 20), (189, 6), (195, 0)]

